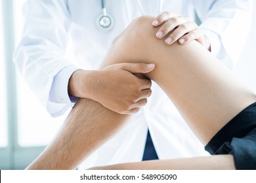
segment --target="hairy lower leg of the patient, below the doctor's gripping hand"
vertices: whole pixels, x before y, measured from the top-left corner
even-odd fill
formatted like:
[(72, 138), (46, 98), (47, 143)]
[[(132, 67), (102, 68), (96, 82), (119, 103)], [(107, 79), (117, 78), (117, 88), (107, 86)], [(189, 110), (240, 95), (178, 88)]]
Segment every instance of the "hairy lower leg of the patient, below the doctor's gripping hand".
[(79, 99), (62, 129), (27, 169), (75, 169), (115, 133), (128, 115), (90, 99)]

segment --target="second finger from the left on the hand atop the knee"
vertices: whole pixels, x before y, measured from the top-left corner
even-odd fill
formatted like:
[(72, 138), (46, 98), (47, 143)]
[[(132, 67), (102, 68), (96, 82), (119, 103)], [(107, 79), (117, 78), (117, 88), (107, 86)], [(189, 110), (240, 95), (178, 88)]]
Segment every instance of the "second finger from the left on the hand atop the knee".
[(160, 29), (156, 33), (156, 37), (158, 37), (158, 39), (162, 39), (163, 37), (165, 37), (165, 35), (173, 31), (177, 27), (182, 27), (182, 29), (188, 29), (191, 25), (187, 24), (190, 22), (190, 19), (186, 17), (173, 17), (167, 22), (163, 23), (163, 25), (161, 25)]

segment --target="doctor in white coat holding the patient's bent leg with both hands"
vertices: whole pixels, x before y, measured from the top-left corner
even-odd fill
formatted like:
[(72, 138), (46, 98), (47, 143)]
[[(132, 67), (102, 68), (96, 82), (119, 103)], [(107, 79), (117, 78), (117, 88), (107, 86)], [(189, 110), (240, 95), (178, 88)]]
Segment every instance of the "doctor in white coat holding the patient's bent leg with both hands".
[[(196, 39), (232, 68), (249, 31), (251, 3), (249, 0), (28, 1), (24, 33), (14, 52), (14, 62), (52, 116), (62, 115), (78, 97), (93, 99), (121, 114), (135, 113), (145, 105), (152, 88), (146, 106), (96, 150), (81, 165), (83, 169), (142, 159), (207, 156), (165, 93), (156, 84), (151, 86), (148, 80), (131, 77), (131, 73), (147, 71), (136, 64), (106, 73), (95, 70), (114, 39), (131, 21), (144, 14), (160, 14), (152, 22), (159, 26), (158, 39), (177, 28), (163, 40), (166, 44), (177, 40), (186, 44)], [(202, 21), (200, 27), (194, 24), (194, 10)], [(234, 37), (239, 44), (234, 44)], [(64, 57), (69, 40), (75, 60)], [(115, 85), (118, 80), (128, 83)], [(139, 85), (127, 90), (129, 81)], [(137, 95), (132, 95), (138, 90)]]

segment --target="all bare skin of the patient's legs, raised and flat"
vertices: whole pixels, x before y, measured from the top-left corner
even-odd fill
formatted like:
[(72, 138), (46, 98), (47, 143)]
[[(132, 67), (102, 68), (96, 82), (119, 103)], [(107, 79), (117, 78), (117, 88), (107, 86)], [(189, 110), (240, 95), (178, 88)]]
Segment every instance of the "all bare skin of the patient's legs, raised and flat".
[[(102, 68), (123, 62), (155, 63), (154, 71), (144, 76), (161, 86), (205, 145), (236, 114), (254, 103), (256, 96), (198, 42), (167, 46), (156, 39), (153, 19), (143, 16), (129, 25), (114, 42)], [(28, 169), (74, 169), (128, 117), (95, 101), (79, 99), (54, 141)], [(235, 169), (235, 165), (232, 155), (221, 155), (99, 169)]]

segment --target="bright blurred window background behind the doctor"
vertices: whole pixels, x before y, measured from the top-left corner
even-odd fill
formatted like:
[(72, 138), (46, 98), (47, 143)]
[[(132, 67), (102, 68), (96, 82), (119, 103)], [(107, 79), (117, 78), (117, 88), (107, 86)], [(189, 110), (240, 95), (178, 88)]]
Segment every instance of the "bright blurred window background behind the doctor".
[[(0, 169), (26, 168), (53, 139), (68, 114), (52, 118), (15, 69), (12, 52), (22, 33), (25, 1), (0, 1)], [(251, 31), (233, 72), (256, 92), (256, 3), (253, 3)], [(230, 41), (236, 44), (236, 37)], [(67, 52), (67, 57), (72, 57), (72, 52)]]

